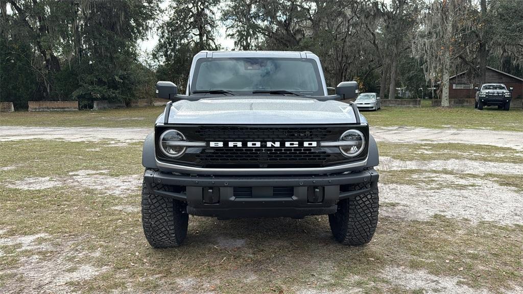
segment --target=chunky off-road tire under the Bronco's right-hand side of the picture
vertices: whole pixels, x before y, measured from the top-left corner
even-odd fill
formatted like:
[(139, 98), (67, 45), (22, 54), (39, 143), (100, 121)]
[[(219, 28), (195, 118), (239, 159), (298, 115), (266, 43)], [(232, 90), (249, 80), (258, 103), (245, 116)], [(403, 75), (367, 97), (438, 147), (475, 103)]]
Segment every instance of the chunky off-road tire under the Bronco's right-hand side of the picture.
[[(358, 189), (370, 188), (361, 184)], [(340, 200), (338, 210), (329, 214), (328, 221), (336, 241), (346, 245), (370, 242), (378, 224), (378, 188), (354, 198)]]

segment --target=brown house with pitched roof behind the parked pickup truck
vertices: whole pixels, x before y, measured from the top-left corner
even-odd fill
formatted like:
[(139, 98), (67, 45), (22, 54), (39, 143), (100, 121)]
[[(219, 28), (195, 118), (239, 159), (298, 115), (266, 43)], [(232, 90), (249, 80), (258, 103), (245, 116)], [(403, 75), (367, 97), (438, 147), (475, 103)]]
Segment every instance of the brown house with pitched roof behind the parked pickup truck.
[[(468, 71), (461, 72), (449, 78), (449, 98), (467, 99), (474, 98), (476, 92), (474, 87), (481, 87), (475, 82), (475, 78), (467, 74)], [(485, 83), (505, 84), (507, 88), (513, 87), (512, 98), (523, 96), (523, 78), (508, 74), (487, 66)]]

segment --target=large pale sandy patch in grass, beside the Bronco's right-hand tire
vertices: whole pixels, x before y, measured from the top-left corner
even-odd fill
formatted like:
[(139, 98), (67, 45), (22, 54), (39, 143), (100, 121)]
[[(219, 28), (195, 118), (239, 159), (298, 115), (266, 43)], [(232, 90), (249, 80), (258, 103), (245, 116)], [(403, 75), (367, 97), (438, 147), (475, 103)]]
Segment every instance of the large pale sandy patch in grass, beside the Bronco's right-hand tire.
[[(394, 206), (382, 206), (380, 213), (408, 220), (428, 220), (438, 213), (449, 218), (467, 218), (472, 222), (523, 224), (523, 195), (516, 188), (456, 175), (426, 173), (419, 176), (434, 182), (421, 187), (380, 184), (380, 200), (395, 203)], [(471, 182), (475, 186), (466, 186)], [(461, 186), (459, 189), (441, 186), (444, 183)]]

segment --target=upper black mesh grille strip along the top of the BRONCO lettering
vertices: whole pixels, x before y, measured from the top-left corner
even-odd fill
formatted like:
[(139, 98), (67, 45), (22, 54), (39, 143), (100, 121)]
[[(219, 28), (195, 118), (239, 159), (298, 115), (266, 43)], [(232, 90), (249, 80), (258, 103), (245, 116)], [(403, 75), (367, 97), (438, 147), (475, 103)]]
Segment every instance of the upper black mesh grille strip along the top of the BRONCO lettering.
[(321, 141), (332, 134), (326, 127), (233, 127), (201, 126), (196, 130), (205, 141)]

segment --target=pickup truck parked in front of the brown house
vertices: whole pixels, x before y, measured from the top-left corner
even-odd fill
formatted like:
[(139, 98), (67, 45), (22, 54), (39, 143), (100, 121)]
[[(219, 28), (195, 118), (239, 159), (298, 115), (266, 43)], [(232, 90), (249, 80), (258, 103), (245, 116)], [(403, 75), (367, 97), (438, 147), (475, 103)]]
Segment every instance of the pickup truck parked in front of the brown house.
[(504, 84), (483, 84), (481, 89), (475, 87), (476, 101), (474, 108), (482, 110), (484, 106), (497, 106), (498, 109), (510, 109), (510, 100), (512, 99), (512, 90)]

